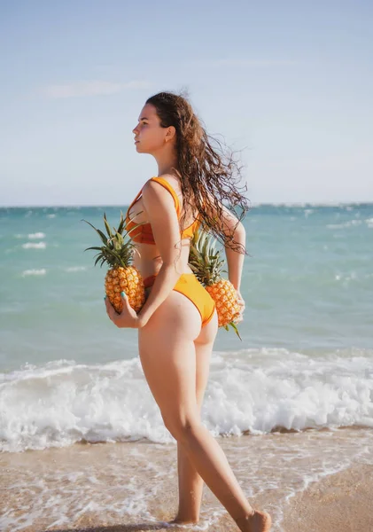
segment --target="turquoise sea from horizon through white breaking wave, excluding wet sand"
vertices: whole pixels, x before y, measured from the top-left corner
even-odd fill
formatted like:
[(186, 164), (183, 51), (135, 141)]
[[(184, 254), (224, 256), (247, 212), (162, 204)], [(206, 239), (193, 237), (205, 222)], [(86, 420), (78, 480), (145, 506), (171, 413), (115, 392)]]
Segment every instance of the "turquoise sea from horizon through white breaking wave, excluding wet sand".
[[(98, 240), (82, 218), (97, 226), (104, 211), (116, 223), (119, 207), (0, 209), (5, 450), (167, 439), (136, 331), (106, 317), (105, 270), (83, 251)], [(245, 228), (243, 341), (218, 334), (207, 426), (234, 434), (373, 426), (373, 205), (258, 206)], [(216, 397), (227, 386), (220, 414)], [(108, 427), (105, 411), (116, 408)]]

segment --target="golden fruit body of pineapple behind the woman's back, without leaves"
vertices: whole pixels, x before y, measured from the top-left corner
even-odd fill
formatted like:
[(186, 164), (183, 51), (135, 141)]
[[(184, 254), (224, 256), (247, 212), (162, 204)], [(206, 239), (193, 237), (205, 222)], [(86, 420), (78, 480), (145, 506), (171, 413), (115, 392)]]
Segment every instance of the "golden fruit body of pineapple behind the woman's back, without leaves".
[(225, 327), (239, 316), (235, 287), (228, 279), (221, 278), (217, 283), (205, 286), (206, 291), (215, 301), (218, 313), (218, 326)]

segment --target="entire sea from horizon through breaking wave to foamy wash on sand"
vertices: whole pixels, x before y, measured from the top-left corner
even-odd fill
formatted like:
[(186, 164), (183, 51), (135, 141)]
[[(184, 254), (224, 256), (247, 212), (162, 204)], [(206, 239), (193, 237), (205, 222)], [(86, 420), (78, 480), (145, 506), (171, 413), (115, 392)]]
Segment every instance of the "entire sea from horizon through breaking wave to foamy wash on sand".
[[(84, 251), (99, 240), (82, 220), (102, 228), (104, 212), (118, 222), (120, 207), (0, 208), (2, 530), (61, 529), (92, 508), (149, 521), (157, 482), (175, 482), (175, 440), (136, 331), (107, 318), (105, 267)], [(253, 205), (244, 223), (242, 340), (219, 331), (202, 420), (247, 496), (270, 493), (282, 530), (284, 505), (310, 482), (373, 464), (373, 204)], [(120, 500), (97, 488), (96, 458), (83, 476), (73, 458), (98, 448), (102, 467), (112, 450), (131, 458), (105, 467), (110, 485), (128, 487)], [(43, 457), (49, 483), (25, 473)], [(195, 528), (214, 529), (221, 508), (211, 499)]]

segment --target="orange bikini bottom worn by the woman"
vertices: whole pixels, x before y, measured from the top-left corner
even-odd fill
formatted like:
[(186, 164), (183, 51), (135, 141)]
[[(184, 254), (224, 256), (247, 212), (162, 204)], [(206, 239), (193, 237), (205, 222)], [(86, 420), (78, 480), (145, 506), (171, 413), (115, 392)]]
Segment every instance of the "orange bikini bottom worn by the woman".
[[(153, 286), (156, 276), (151, 275), (144, 279), (145, 288)], [(201, 316), (202, 327), (208, 324), (214, 316), (215, 303), (211, 295), (200, 284), (194, 273), (182, 273), (173, 290), (183, 293), (198, 309)]]

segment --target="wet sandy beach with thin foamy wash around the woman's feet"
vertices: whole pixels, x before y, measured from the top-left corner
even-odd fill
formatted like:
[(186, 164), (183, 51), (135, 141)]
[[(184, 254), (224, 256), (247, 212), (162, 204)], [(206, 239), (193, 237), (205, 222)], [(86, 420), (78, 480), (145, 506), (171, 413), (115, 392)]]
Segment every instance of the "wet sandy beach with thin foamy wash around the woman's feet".
[[(373, 529), (372, 431), (246, 435), (219, 442), (253, 506), (272, 514), (274, 531)], [(167, 525), (177, 509), (174, 444), (76, 444), (4, 453), (0, 465), (4, 532), (237, 530), (206, 487), (198, 526)]]

